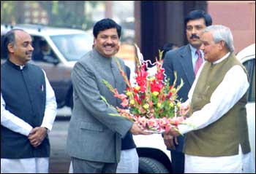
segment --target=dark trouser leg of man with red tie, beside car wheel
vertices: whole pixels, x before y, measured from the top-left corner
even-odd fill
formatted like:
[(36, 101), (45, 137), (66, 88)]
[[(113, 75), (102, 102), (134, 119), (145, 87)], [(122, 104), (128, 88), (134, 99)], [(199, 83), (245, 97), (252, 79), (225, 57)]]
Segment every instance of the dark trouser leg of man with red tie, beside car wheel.
[(181, 151), (170, 151), (173, 173), (184, 173), (184, 153)]

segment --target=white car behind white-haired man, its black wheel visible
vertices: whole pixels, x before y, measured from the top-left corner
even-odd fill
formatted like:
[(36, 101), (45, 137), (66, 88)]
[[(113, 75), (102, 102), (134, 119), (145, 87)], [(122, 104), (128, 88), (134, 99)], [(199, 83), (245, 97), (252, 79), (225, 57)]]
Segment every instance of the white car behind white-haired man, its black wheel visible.
[[(238, 60), (246, 67), (249, 79), (249, 95), (246, 104), (249, 141), (255, 159), (255, 44), (241, 50)], [(139, 156), (139, 173), (171, 173), (170, 151), (167, 151), (162, 135), (135, 135)]]

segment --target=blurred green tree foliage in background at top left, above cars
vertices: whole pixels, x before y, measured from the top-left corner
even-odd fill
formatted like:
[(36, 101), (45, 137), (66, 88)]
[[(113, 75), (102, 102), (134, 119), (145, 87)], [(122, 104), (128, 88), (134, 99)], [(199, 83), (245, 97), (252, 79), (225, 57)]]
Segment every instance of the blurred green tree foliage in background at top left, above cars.
[(87, 29), (94, 21), (85, 15), (86, 3), (97, 7), (103, 1), (1, 1), (1, 23), (26, 23), (24, 6), (39, 4), (48, 15), (48, 25)]

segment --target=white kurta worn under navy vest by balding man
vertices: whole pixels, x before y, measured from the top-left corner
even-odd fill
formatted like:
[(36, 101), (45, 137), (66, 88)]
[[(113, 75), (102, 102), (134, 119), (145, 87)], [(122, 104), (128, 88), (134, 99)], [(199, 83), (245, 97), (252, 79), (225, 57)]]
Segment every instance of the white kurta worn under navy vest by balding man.
[[(20, 66), (20, 68), (23, 68)], [(45, 72), (44, 72), (45, 74)], [(45, 114), (41, 127), (46, 127), (50, 131), (57, 114), (57, 104), (53, 88), (45, 75)], [(1, 95), (1, 125), (8, 129), (28, 136), (33, 129), (30, 124), (24, 122), (18, 116), (5, 109), (5, 101)], [(48, 173), (49, 158), (29, 158), (29, 159), (2, 159), (1, 173)]]

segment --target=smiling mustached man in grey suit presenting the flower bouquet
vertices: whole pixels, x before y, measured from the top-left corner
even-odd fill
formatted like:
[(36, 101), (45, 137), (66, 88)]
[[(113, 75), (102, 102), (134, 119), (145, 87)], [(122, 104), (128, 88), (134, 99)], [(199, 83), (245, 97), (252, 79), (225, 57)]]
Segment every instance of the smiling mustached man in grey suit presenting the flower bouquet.
[[(119, 93), (126, 84), (113, 59), (118, 50), (121, 26), (110, 19), (99, 20), (94, 25), (94, 48), (75, 64), (72, 71), (74, 108), (67, 136), (67, 151), (72, 159), (74, 173), (116, 173), (120, 159), (121, 138), (130, 131), (144, 134), (138, 124), (121, 116), (110, 116), (117, 111), (108, 106), (119, 106), (102, 79), (108, 81)], [(124, 61), (118, 59), (125, 70)]]

